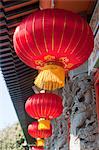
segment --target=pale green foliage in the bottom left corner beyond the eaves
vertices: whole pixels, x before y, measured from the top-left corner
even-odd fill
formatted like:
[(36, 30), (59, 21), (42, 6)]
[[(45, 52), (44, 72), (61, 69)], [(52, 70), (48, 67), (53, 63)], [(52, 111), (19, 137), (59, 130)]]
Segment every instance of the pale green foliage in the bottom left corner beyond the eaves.
[(0, 131), (0, 150), (23, 150), (24, 141), (19, 123)]

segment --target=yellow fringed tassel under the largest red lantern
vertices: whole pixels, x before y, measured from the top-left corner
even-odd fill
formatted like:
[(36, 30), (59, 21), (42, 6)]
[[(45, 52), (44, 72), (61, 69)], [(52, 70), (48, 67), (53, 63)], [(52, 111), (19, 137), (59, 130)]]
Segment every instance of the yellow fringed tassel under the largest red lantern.
[(64, 87), (65, 70), (58, 65), (46, 65), (38, 74), (34, 84), (40, 89), (55, 90)]

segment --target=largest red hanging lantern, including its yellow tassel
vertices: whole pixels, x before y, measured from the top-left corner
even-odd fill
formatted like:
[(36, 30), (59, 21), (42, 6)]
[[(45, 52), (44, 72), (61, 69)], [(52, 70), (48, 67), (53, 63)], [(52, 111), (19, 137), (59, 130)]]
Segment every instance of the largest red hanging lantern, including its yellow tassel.
[(28, 66), (38, 69), (36, 86), (54, 90), (64, 86), (65, 75), (90, 56), (94, 38), (79, 15), (60, 9), (36, 11), (14, 33), (14, 48)]

